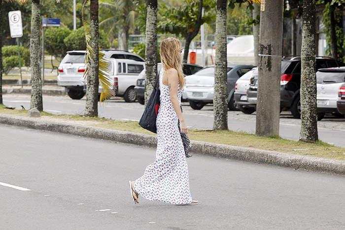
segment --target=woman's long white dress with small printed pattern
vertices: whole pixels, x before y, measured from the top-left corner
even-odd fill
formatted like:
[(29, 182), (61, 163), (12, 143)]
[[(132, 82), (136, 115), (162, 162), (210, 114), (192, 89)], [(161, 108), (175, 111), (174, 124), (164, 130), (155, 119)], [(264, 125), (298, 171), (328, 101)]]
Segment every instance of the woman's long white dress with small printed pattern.
[[(134, 183), (134, 188), (142, 197), (172, 204), (192, 202), (189, 191), (188, 166), (184, 153), (178, 117), (170, 100), (169, 87), (163, 85), (163, 68), (159, 73), (161, 91), (158, 109), (157, 152), (154, 163), (146, 167), (145, 173)], [(177, 97), (181, 103), (183, 89), (178, 84)]]

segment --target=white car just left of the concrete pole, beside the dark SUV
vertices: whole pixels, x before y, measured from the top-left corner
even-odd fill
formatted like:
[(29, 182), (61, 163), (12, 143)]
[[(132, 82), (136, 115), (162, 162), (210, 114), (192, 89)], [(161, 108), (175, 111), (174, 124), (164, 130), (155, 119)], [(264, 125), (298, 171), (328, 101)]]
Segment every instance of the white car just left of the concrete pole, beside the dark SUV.
[(237, 107), (245, 114), (252, 114), (255, 112), (255, 108), (250, 106), (250, 103), (247, 100), (247, 90), (249, 89), (250, 79), (252, 78), (255, 69), (256, 67), (243, 74), (235, 84), (235, 105), (237, 105)]

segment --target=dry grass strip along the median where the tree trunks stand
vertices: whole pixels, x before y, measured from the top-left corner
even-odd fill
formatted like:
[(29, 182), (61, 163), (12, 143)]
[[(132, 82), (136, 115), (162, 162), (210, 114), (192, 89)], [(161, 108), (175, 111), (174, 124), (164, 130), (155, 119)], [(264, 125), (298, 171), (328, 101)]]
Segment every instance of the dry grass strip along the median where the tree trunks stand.
[[(5, 107), (6, 106), (4, 105), (0, 105), (1, 114), (27, 116), (27, 110), (8, 109)], [(138, 122), (133, 121), (125, 122), (98, 117), (83, 117), (78, 115), (53, 115), (46, 112), (41, 112), (41, 116), (47, 119), (54, 119), (61, 122), (73, 122), (74, 124), (79, 125), (86, 125), (112, 130), (133, 131), (155, 135), (150, 131), (142, 129), (138, 125)], [(330, 145), (322, 141), (317, 141), (316, 143), (304, 143), (300, 141), (284, 139), (279, 136), (261, 137), (244, 132), (235, 132), (229, 130), (189, 130), (188, 136), (191, 140), (228, 144), (263, 150), (272, 150), (320, 158), (345, 160), (345, 148)]]

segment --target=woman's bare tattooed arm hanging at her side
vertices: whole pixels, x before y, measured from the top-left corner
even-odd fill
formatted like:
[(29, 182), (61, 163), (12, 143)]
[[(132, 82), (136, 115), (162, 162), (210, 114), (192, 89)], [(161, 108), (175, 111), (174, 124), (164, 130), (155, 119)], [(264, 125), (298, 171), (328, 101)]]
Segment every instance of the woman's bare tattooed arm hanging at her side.
[(180, 121), (181, 132), (188, 133), (188, 129), (181, 112), (180, 104), (178, 103), (178, 99), (177, 99), (177, 85), (178, 85), (177, 70), (174, 68), (170, 68), (165, 72), (165, 75), (168, 78), (170, 100), (173, 103), (173, 109), (175, 110), (178, 120)]

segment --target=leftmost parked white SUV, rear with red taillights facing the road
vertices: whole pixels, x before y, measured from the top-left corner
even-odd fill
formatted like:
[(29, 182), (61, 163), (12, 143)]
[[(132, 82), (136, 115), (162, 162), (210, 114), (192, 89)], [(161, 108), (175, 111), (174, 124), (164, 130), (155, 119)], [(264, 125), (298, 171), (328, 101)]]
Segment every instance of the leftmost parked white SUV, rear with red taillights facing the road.
[[(105, 58), (144, 62), (140, 56), (127, 51), (104, 50), (103, 53)], [(81, 99), (85, 95), (83, 91), (85, 67), (85, 50), (68, 51), (58, 67), (58, 85), (65, 87), (71, 99)]]

